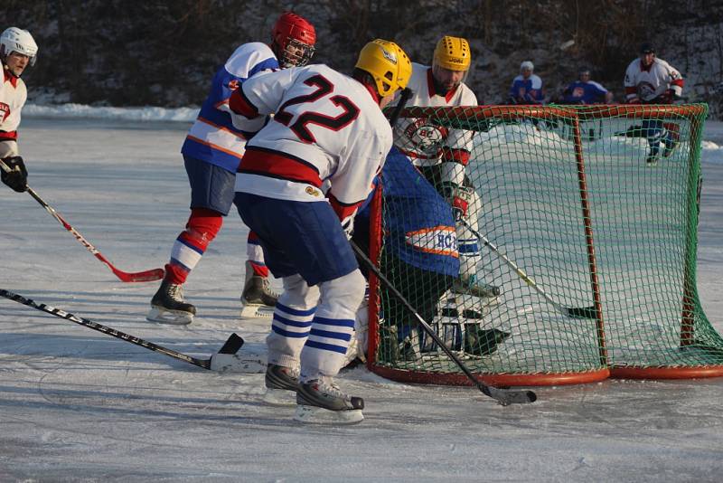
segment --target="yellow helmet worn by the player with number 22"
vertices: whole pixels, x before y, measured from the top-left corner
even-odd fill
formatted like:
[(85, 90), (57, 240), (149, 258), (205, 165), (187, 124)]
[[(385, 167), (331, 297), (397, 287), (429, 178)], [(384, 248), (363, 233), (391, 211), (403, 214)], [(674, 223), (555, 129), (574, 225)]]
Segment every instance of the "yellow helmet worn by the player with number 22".
[(381, 97), (407, 87), (412, 75), (412, 62), (401, 47), (381, 39), (364, 45), (354, 67), (369, 72)]

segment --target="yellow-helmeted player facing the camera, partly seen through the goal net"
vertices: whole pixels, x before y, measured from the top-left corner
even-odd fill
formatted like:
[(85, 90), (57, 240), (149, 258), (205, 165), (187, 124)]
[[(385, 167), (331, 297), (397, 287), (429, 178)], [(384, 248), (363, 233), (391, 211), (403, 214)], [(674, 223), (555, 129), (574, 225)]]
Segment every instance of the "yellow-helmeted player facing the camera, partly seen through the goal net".
[[(432, 66), (412, 63), (409, 106), (476, 106), (474, 92), (465, 84), (472, 61), (469, 43), (461, 37), (444, 36), (435, 48)], [(465, 175), (473, 131), (447, 129), (426, 118), (400, 118), (394, 128), (394, 146), (418, 166), (429, 183), (451, 205), (456, 219), (460, 270), (454, 289), (458, 294), (494, 298), (500, 289), (477, 279), (480, 244), (467, 226), (477, 230), (476, 211), (482, 204), (470, 178)], [(463, 223), (464, 222), (464, 223)]]

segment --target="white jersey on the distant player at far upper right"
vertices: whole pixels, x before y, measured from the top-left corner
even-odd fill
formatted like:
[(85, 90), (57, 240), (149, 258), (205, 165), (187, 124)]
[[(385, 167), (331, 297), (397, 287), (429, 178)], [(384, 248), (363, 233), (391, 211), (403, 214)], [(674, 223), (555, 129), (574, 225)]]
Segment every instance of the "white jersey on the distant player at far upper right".
[[(644, 67), (640, 59), (630, 62), (625, 71), (625, 98), (631, 101), (635, 98), (643, 102), (657, 101), (656, 99), (672, 90), (680, 96), (683, 90), (681, 72), (673, 69), (671, 64), (662, 59), (655, 58), (650, 67)], [(663, 97), (664, 98), (664, 97)], [(671, 99), (662, 101), (670, 102)]]

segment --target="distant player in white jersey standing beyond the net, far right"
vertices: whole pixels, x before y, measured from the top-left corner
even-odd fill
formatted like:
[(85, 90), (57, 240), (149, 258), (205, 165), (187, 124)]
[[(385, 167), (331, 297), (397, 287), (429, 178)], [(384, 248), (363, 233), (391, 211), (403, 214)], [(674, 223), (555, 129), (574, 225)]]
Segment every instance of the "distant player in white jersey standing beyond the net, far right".
[[(625, 99), (628, 104), (671, 104), (681, 99), (683, 78), (671, 64), (658, 59), (651, 43), (643, 43), (640, 56), (630, 62), (625, 71)], [(662, 156), (671, 156), (680, 140), (680, 126), (660, 119), (643, 119), (643, 137), (648, 140), (650, 151), (645, 158), (649, 166), (658, 163), (661, 145)]]

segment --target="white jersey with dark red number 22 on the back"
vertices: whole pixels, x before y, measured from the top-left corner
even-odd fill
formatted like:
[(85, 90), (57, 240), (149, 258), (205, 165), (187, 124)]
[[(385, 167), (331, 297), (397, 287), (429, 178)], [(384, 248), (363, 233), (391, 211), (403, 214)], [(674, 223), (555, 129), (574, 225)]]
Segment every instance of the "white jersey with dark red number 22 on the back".
[(362, 83), (317, 64), (246, 80), (230, 108), (249, 119), (275, 113), (246, 146), (236, 191), (324, 201), (340, 220), (356, 212), (392, 143), (389, 121)]

